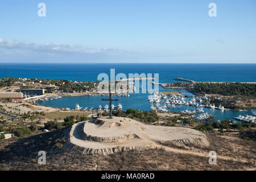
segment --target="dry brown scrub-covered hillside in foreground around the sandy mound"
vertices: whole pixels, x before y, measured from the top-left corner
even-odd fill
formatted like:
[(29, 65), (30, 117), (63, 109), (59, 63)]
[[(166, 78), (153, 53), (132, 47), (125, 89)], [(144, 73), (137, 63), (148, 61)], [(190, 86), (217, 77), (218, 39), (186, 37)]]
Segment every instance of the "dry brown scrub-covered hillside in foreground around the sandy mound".
[[(131, 150), (112, 155), (84, 155), (80, 150), (65, 147), (71, 127), (30, 136), (0, 141), (0, 168), (2, 170), (240, 170), (253, 168), (255, 142), (241, 139), (238, 135), (218, 136), (209, 134), (209, 148), (180, 148), (183, 150), (216, 150), (220, 155), (248, 162), (217, 160), (210, 166), (208, 158), (174, 153), (162, 149)], [(174, 148), (179, 148), (172, 146)], [(38, 164), (38, 151), (47, 151), (46, 165)]]

